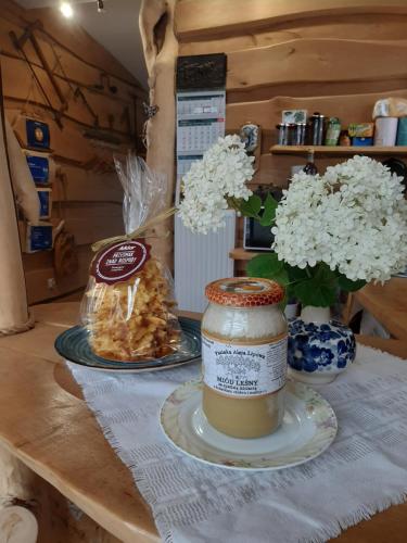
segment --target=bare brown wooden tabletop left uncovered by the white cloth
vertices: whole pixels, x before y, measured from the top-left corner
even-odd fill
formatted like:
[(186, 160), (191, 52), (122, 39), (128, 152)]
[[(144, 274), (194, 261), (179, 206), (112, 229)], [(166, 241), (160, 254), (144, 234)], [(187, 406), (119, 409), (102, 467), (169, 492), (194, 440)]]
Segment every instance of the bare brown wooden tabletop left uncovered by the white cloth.
[[(0, 444), (118, 540), (158, 541), (130, 472), (53, 350), (55, 337), (75, 324), (78, 304), (37, 306), (35, 314), (35, 329), (0, 339)], [(405, 543), (406, 530), (404, 504), (348, 529), (339, 540)]]

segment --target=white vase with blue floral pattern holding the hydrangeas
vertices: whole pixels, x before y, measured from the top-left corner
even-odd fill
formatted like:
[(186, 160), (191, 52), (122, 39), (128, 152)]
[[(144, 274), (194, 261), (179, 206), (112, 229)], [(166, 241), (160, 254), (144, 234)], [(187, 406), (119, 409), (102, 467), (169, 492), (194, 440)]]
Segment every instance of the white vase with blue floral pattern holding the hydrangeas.
[(289, 321), (289, 372), (297, 381), (325, 384), (354, 362), (356, 342), (347, 326), (330, 319), (329, 307), (304, 307)]

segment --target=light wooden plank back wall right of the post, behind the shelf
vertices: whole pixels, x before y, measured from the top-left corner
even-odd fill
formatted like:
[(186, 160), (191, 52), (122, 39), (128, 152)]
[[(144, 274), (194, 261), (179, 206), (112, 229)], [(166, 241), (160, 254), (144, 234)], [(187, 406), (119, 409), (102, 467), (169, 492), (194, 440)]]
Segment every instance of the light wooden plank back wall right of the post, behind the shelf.
[(269, 153), (281, 110), (320, 111), (346, 125), (370, 121), (379, 98), (407, 98), (406, 28), (405, 0), (178, 0), (176, 10), (179, 54), (228, 55), (227, 131), (262, 126), (253, 187), (285, 187), (291, 166), (304, 163)]

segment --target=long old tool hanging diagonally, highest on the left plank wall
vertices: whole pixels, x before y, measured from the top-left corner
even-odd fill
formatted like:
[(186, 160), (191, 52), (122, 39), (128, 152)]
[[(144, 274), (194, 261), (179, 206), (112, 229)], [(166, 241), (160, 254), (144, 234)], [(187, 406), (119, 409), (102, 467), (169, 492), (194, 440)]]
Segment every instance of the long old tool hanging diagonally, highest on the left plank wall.
[[(49, 108), (53, 112), (53, 115), (54, 115), (54, 118), (55, 118), (58, 126), (62, 129), (63, 125), (62, 125), (61, 116), (62, 116), (62, 113), (67, 110), (68, 104), (67, 104), (67, 101), (64, 97), (64, 93), (63, 93), (56, 78), (53, 75), (53, 72), (52, 72), (52, 70), (47, 61), (47, 58), (44, 56), (44, 54), (40, 48), (40, 45), (38, 43), (37, 38), (34, 35), (34, 31), (36, 29), (41, 29), (41, 28), (42, 28), (42, 23), (40, 21), (36, 21), (35, 23), (28, 25), (25, 28), (23, 35), (20, 38), (17, 38), (17, 36), (14, 31), (10, 31), (9, 36), (10, 36), (15, 49), (18, 52), (21, 52), (21, 54), (23, 55), (23, 59), (27, 63), (30, 72), (33, 74), (33, 77), (35, 78), (41, 93), (43, 94), (43, 98), (44, 98), (47, 104), (49, 105)], [(59, 111), (55, 110), (55, 108), (52, 105), (50, 98), (48, 97), (38, 75), (36, 74), (35, 70), (34, 70), (31, 63), (29, 62), (29, 59), (24, 50), (24, 46), (26, 45), (27, 41), (30, 41), (30, 43), (31, 43), (31, 46), (33, 46), (33, 48), (34, 48), (39, 61), (40, 61), (42, 68), (46, 71), (46, 73), (51, 81), (51, 85), (56, 92), (56, 96), (61, 102), (61, 108)]]

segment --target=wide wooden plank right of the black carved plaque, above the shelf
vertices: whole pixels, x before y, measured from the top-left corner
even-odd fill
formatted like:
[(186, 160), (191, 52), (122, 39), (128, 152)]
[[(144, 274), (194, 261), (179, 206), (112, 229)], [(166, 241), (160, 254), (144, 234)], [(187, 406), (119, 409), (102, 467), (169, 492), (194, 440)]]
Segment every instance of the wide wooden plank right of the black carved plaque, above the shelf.
[(407, 41), (353, 39), (295, 39), (234, 51), (228, 55), (227, 90), (334, 81), (385, 80), (389, 86), (392, 79), (407, 80), (406, 53)]

